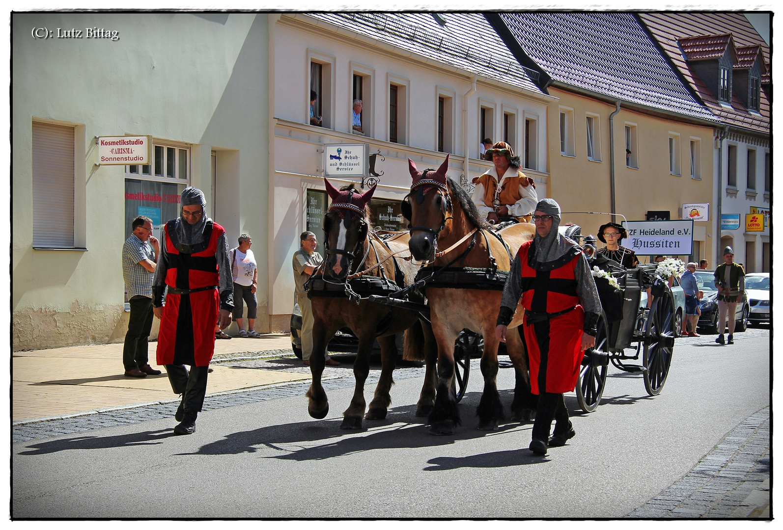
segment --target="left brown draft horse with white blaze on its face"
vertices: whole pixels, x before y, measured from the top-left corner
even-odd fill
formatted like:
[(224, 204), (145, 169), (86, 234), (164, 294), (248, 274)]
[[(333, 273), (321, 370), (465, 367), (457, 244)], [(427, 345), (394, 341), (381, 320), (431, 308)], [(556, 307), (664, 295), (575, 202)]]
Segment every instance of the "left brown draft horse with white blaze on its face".
[[(427, 363), (424, 386), (417, 406), (417, 416), (426, 416), (435, 403), (437, 348), (430, 324), (420, 321), (419, 314), (413, 310), (384, 306), (366, 300), (357, 304), (348, 299), (344, 290), (348, 278), (364, 271), (366, 274), (361, 274), (360, 278), (387, 278), (391, 282), (399, 281), (399, 284), (403, 284), (402, 278), (399, 278), (399, 272), (402, 272), (403, 285), (412, 284), (417, 267), (410, 261), (392, 257), (409, 254), (410, 235), (397, 235), (383, 242), (370, 229), (370, 209), (366, 204), (370, 202), (375, 186), (359, 194), (352, 185), (337, 191), (329, 181), (324, 181), (332, 199), (323, 220), (327, 256), (322, 267), (313, 274), (313, 280), (326, 282), (321, 285), (331, 288), (332, 295), (324, 296), (324, 292), (317, 295), (319, 293), (311, 290), (315, 323), (312, 328), (313, 348), (310, 357), (312, 385), (306, 394), (309, 398), (308, 412), (316, 419), (326, 417), (329, 412), (327, 394), (321, 385), (327, 344), (337, 330), (348, 327), (359, 338), (359, 351), (353, 366), (355, 391), (350, 406), (343, 413), (341, 428), (361, 428), (363, 417), (368, 420), (382, 420), (386, 417), (391, 404), (389, 389), (394, 384), (391, 376), (397, 361), (395, 334), (401, 331), (405, 331), (403, 359), (425, 360)], [(399, 269), (397, 273), (395, 261)], [(423, 297), (420, 302), (424, 303)], [(370, 372), (370, 352), (376, 338), (381, 346), (381, 378), (365, 416), (364, 383)]]

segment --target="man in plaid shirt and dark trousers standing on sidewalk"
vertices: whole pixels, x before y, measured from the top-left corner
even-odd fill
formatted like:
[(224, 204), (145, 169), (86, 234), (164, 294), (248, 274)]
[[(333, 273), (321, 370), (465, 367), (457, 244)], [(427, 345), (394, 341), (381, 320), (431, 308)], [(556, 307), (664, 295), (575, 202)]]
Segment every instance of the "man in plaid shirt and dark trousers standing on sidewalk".
[(131, 224), (133, 233), (122, 245), (122, 278), (131, 305), (131, 318), (122, 363), (128, 378), (146, 378), (158, 375), (160, 370), (150, 367), (147, 356), (147, 338), (152, 329), (152, 279), (161, 250), (157, 238), (152, 235), (150, 217), (139, 216)]

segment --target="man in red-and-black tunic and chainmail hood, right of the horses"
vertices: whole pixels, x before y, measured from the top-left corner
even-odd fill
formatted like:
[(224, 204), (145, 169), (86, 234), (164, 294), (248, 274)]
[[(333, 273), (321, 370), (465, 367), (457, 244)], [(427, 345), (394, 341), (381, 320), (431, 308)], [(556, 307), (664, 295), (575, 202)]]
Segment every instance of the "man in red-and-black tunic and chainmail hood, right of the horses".
[(576, 386), (583, 352), (595, 345), (601, 300), (582, 249), (557, 231), (557, 202), (539, 201), (532, 219), (536, 236), (521, 245), (511, 264), (500, 300), (496, 335), (506, 342), (507, 326), (521, 297), (530, 386), (539, 396), (530, 450), (546, 454), (547, 443), (550, 447), (563, 446), (576, 435), (563, 394)]

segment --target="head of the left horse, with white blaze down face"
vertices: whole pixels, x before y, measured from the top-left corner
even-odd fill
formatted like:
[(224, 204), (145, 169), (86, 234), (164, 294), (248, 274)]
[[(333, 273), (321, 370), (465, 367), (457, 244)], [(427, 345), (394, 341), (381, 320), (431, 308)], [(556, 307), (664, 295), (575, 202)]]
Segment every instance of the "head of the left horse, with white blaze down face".
[(356, 255), (359, 243), (367, 237), (367, 203), (375, 192), (375, 186), (364, 193), (356, 192), (353, 184), (337, 190), (327, 179), (327, 192), (332, 204), (323, 217), (323, 233), (326, 236), (327, 259), (325, 272), (330, 278), (343, 280)]

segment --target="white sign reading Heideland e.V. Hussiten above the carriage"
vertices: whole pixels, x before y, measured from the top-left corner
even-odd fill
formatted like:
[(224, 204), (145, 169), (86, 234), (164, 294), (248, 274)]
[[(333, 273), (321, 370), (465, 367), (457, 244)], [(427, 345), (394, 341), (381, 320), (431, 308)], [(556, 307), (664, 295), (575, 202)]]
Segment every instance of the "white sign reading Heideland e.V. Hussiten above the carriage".
[(687, 255), (693, 247), (693, 220), (624, 221), (628, 239), (622, 245), (639, 256)]

